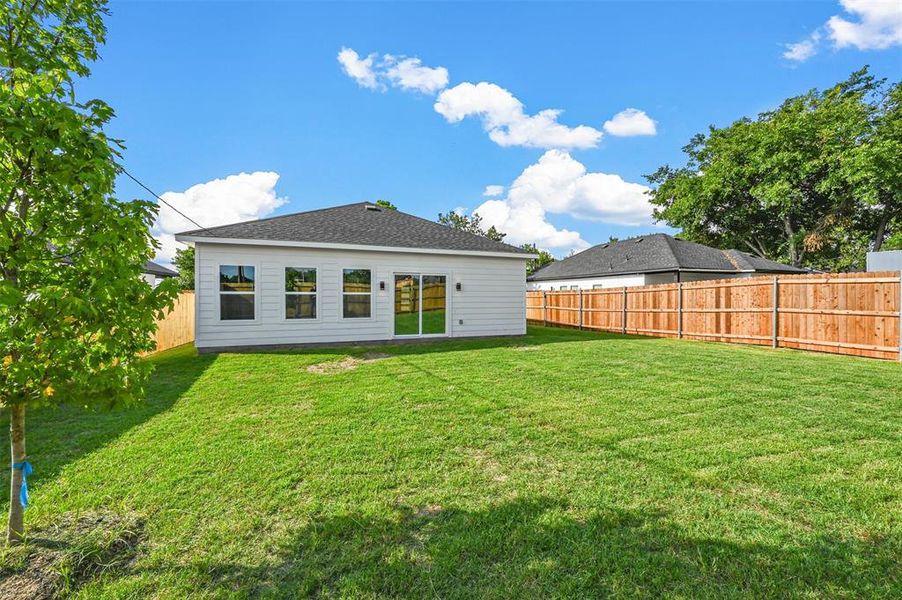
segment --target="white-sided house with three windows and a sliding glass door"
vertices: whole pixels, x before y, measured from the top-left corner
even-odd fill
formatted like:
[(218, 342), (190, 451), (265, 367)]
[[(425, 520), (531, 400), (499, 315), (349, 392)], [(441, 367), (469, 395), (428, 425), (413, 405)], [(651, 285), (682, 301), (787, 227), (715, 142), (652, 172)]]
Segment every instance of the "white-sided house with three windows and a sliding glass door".
[(520, 248), (369, 203), (178, 234), (195, 248), (195, 345), (526, 333)]

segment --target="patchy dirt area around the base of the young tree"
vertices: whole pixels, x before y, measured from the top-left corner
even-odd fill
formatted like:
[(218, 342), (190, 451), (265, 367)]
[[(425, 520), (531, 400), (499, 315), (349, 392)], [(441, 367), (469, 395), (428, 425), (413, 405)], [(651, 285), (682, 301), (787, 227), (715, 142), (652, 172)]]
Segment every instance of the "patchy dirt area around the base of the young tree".
[(92, 579), (131, 567), (143, 539), (144, 522), (134, 516), (92, 512), (67, 515), (29, 532), (28, 541), (4, 557), (0, 598), (52, 600), (78, 591)]

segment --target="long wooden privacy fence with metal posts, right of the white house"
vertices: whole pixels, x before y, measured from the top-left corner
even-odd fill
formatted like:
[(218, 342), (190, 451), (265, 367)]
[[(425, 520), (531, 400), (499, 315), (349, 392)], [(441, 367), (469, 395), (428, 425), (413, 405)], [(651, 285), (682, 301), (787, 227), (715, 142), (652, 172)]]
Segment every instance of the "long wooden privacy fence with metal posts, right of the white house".
[(527, 292), (533, 323), (902, 360), (902, 274)]

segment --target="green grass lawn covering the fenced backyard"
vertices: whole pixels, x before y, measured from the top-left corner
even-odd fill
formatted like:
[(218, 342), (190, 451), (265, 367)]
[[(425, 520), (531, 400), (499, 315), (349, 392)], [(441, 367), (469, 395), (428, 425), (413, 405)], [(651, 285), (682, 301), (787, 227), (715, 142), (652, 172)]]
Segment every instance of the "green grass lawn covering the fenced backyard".
[(84, 598), (902, 595), (897, 363), (531, 328), (306, 369), (368, 350), (31, 413), (29, 525), (142, 520)]

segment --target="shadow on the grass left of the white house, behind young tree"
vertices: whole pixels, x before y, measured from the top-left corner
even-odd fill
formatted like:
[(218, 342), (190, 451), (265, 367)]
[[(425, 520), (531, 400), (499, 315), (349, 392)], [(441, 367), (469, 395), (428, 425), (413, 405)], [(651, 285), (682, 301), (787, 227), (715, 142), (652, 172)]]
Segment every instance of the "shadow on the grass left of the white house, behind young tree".
[[(81, 406), (46, 407), (26, 414), (26, 448), (34, 464), (29, 485), (49, 481), (68, 463), (105, 446), (128, 430), (168, 410), (203, 374), (215, 356), (197, 356), (182, 346), (146, 358), (155, 366), (144, 402), (128, 408), (86, 410)], [(9, 447), (9, 415), (0, 417), (0, 444)], [(9, 500), (9, 471), (2, 470), (0, 505)]]

